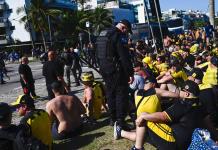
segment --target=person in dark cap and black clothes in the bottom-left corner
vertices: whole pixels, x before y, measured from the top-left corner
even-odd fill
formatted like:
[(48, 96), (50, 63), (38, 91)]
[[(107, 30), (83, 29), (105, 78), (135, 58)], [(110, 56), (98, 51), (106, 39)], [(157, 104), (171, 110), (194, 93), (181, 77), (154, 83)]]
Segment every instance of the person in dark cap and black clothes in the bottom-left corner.
[(15, 146), (11, 138), (15, 138), (20, 128), (11, 124), (12, 111), (7, 103), (0, 103), (0, 149), (14, 150)]

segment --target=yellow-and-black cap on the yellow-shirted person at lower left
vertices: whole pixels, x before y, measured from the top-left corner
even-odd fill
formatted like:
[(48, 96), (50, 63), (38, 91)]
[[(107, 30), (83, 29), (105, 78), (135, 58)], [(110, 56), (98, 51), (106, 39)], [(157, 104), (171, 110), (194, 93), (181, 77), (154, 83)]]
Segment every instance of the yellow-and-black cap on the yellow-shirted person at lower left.
[(34, 108), (34, 100), (29, 95), (19, 95), (17, 100), (11, 103), (12, 106), (19, 106), (21, 104), (27, 105), (29, 108)]

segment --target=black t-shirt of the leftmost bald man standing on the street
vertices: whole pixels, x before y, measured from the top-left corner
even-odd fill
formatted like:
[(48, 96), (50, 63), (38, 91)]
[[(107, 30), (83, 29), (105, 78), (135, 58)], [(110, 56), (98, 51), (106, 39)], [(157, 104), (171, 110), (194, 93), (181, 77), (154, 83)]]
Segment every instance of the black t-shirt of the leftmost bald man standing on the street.
[[(20, 64), (19, 68), (18, 68), (18, 72), (19, 74), (23, 74), (25, 79), (27, 80), (28, 83), (33, 83), (34, 79), (33, 79), (33, 74), (31, 71), (31, 68), (29, 67), (29, 65), (26, 64)], [(22, 81), (22, 78), (21, 78)]]

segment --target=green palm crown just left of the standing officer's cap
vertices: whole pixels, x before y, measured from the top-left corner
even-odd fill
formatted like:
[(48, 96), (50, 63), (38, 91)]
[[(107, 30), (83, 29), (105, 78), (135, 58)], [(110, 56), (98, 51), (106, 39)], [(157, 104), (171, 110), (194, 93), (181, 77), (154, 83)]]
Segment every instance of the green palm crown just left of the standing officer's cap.
[(113, 16), (110, 11), (103, 7), (97, 7), (88, 18), (92, 24), (94, 35), (98, 36), (100, 32), (112, 26)]

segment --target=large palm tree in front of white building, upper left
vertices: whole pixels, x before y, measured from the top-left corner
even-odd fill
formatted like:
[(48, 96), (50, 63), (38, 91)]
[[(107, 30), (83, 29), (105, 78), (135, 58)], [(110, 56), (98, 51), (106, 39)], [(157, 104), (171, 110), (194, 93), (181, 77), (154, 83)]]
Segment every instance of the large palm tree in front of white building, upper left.
[[(44, 47), (46, 49), (45, 32), (49, 31), (48, 16), (51, 19), (55, 19), (59, 14), (60, 10), (48, 9), (44, 6), (43, 0), (32, 0), (28, 8), (26, 8), (26, 16), (20, 19), (20, 22), (30, 22), (31, 26), (36, 32), (40, 32), (43, 40)], [(25, 8), (21, 7), (17, 9), (17, 14), (25, 12)], [(30, 28), (30, 27), (29, 27)]]

